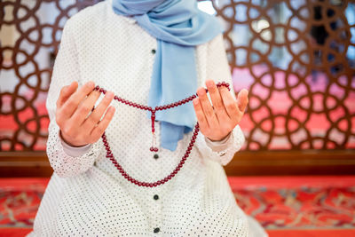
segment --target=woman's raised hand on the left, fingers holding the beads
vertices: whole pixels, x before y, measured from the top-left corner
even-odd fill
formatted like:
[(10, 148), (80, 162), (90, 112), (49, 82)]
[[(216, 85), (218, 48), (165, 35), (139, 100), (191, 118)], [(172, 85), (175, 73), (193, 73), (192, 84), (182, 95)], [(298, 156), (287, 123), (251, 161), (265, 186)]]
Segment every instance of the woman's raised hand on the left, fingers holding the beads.
[(85, 146), (98, 141), (114, 116), (114, 107), (108, 107), (114, 99), (111, 91), (106, 92), (104, 99), (91, 113), (100, 95), (99, 91), (93, 91), (94, 87), (95, 84), (89, 82), (78, 89), (78, 83), (74, 82), (60, 91), (56, 122), (61, 137), (70, 146)]

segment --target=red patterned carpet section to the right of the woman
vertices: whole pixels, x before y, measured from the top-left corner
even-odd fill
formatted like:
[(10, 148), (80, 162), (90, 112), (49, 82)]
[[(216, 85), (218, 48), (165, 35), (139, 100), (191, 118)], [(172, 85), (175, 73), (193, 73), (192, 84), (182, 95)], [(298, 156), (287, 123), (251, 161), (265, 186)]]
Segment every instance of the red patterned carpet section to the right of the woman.
[(355, 230), (354, 177), (230, 178), (230, 182), (241, 209), (266, 229)]

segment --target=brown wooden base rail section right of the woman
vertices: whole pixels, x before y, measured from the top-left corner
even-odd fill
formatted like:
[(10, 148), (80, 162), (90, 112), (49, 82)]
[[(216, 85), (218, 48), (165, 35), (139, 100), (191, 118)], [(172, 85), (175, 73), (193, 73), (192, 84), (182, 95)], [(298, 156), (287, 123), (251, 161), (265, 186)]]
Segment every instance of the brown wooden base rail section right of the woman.
[(355, 175), (353, 150), (241, 152), (225, 171), (232, 176)]

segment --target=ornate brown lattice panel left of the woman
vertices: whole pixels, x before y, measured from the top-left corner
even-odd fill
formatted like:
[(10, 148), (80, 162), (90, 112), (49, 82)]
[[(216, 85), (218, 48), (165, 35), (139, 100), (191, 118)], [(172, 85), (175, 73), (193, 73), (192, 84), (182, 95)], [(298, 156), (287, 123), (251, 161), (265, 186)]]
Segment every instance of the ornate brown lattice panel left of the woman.
[(0, 1), (0, 150), (44, 150), (45, 99), (67, 19), (98, 1)]

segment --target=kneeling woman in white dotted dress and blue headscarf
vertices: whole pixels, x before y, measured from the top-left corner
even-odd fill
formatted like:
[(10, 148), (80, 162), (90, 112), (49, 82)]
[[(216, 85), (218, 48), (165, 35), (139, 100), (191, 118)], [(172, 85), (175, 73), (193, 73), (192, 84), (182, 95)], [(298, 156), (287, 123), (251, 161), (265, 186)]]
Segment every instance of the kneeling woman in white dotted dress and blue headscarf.
[[(248, 230), (222, 168), (244, 142), (238, 122), (248, 91), (234, 99), (215, 81), (231, 83), (223, 39), (194, 1), (106, 1), (67, 20), (47, 99), (54, 173), (30, 235), (260, 231)], [(193, 103), (156, 113), (113, 101), (117, 95), (154, 108), (196, 91)], [(201, 132), (177, 169), (196, 117)]]

